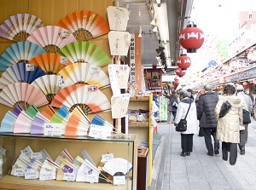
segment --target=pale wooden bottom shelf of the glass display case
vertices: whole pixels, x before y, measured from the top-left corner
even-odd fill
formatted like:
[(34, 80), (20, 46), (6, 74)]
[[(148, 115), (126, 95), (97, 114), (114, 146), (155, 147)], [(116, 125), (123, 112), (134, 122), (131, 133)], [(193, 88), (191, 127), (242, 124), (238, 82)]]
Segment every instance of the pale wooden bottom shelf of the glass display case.
[(25, 180), (17, 176), (3, 176), (0, 183), (1, 189), (44, 189), (44, 190), (60, 190), (60, 189), (73, 189), (73, 190), (98, 190), (98, 189), (112, 189), (112, 190), (126, 190), (131, 187), (131, 180), (129, 184), (121, 186), (113, 186), (108, 183), (87, 183), (76, 181), (39, 181), (39, 180)]

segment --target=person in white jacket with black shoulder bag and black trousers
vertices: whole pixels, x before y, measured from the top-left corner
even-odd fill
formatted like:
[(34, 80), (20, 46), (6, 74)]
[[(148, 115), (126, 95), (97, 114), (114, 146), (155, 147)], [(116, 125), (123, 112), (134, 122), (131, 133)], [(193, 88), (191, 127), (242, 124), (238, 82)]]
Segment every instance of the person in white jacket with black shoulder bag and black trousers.
[[(193, 151), (193, 135), (197, 133), (197, 119), (196, 119), (196, 107), (195, 101), (189, 98), (189, 92), (185, 89), (181, 89), (178, 92), (180, 102), (178, 103), (177, 113), (174, 125), (177, 126), (179, 121), (182, 118), (185, 118), (187, 115), (187, 130), (181, 132), (181, 147), (182, 153), (181, 156), (186, 157), (190, 156), (190, 153)], [(190, 107), (189, 107), (190, 104)]]

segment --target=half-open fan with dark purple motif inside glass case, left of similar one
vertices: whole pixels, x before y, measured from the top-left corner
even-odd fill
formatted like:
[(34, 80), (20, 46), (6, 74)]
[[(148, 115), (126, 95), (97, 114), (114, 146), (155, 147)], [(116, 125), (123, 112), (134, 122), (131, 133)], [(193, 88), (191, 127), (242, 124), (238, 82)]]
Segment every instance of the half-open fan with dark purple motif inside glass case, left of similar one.
[(64, 158), (57, 171), (56, 180), (75, 181), (79, 168)]

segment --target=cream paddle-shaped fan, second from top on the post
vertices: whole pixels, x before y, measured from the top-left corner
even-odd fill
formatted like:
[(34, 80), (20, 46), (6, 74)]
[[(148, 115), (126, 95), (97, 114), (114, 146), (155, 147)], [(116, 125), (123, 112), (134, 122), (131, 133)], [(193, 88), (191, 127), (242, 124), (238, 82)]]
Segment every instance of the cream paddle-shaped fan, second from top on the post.
[(108, 33), (108, 43), (111, 55), (127, 56), (131, 43), (131, 34), (129, 32), (111, 31)]

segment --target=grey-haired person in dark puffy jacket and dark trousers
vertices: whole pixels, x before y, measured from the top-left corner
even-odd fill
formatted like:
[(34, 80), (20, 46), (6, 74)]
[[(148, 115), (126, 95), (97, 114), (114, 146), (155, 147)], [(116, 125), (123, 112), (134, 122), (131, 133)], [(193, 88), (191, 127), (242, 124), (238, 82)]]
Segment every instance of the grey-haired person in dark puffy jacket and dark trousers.
[[(196, 104), (197, 119), (205, 137), (207, 155), (213, 156), (212, 137), (214, 140), (214, 153), (218, 154), (219, 142), (216, 140), (217, 120), (215, 118), (215, 107), (218, 103), (218, 95), (212, 91), (209, 84), (204, 86), (205, 93), (202, 94)], [(212, 136), (211, 136), (212, 135)]]

